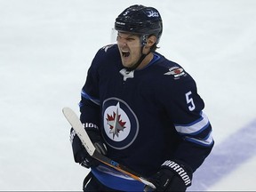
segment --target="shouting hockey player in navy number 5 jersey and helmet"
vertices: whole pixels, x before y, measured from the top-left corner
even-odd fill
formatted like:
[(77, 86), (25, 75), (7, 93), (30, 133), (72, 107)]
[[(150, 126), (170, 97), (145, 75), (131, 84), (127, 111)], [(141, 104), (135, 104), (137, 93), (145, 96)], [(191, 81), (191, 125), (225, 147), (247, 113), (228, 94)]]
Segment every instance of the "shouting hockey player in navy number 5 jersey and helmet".
[(156, 52), (163, 31), (153, 7), (132, 5), (115, 22), (117, 44), (92, 60), (80, 101), (81, 122), (100, 153), (156, 186), (100, 164), (73, 129), (76, 163), (91, 168), (84, 191), (185, 191), (213, 147), (212, 126), (194, 79)]

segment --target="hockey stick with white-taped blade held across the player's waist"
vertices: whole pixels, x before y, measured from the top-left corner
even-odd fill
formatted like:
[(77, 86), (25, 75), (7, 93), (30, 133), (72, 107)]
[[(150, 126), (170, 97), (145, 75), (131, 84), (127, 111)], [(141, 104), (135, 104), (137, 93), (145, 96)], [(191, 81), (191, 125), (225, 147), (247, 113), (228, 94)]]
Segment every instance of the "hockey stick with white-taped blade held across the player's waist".
[(84, 130), (84, 125), (79, 120), (76, 113), (71, 108), (63, 108), (62, 112), (64, 116), (67, 118), (68, 123), (73, 127), (77, 136), (81, 140), (84, 145), (84, 148), (87, 150), (90, 156), (99, 160), (103, 164), (107, 164), (108, 166), (116, 169), (119, 172), (123, 172), (124, 174), (132, 177), (134, 180), (139, 180), (150, 188), (156, 188), (155, 185), (149, 180), (142, 177), (140, 174), (133, 172), (122, 164), (118, 164), (116, 161), (109, 159), (107, 156), (103, 156), (99, 151), (93, 146), (92, 141), (90, 140), (87, 132)]

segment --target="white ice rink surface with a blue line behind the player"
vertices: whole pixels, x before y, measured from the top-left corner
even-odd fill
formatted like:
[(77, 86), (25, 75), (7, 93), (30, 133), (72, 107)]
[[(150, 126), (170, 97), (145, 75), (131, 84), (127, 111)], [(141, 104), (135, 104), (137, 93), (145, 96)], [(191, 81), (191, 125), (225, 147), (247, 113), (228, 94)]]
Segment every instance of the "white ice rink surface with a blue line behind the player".
[(188, 191), (255, 191), (256, 1), (0, 0), (0, 190), (82, 189), (61, 108), (78, 113), (87, 69), (116, 16), (154, 6), (158, 52), (196, 80), (215, 148)]

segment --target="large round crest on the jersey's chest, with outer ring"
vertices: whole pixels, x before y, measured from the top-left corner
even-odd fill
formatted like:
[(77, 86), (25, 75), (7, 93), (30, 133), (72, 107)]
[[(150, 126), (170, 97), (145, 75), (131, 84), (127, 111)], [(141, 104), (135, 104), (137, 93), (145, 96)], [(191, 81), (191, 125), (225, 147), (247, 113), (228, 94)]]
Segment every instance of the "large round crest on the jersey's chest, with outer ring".
[(128, 148), (136, 140), (139, 121), (124, 100), (108, 98), (102, 104), (103, 138), (112, 148)]

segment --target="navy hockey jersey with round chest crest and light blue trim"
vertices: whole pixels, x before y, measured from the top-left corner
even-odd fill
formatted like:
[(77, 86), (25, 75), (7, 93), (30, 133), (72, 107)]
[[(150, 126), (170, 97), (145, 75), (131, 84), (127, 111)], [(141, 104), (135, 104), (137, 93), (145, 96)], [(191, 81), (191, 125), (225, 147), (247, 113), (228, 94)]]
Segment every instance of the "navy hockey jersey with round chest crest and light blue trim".
[[(101, 48), (88, 70), (79, 106), (82, 123), (99, 130), (108, 157), (146, 177), (168, 159), (179, 159), (195, 172), (212, 150), (212, 126), (194, 79), (157, 52), (147, 67), (128, 71), (116, 44)], [(130, 179), (104, 166), (92, 173), (109, 188), (141, 188), (138, 183), (117, 188), (111, 177)]]

